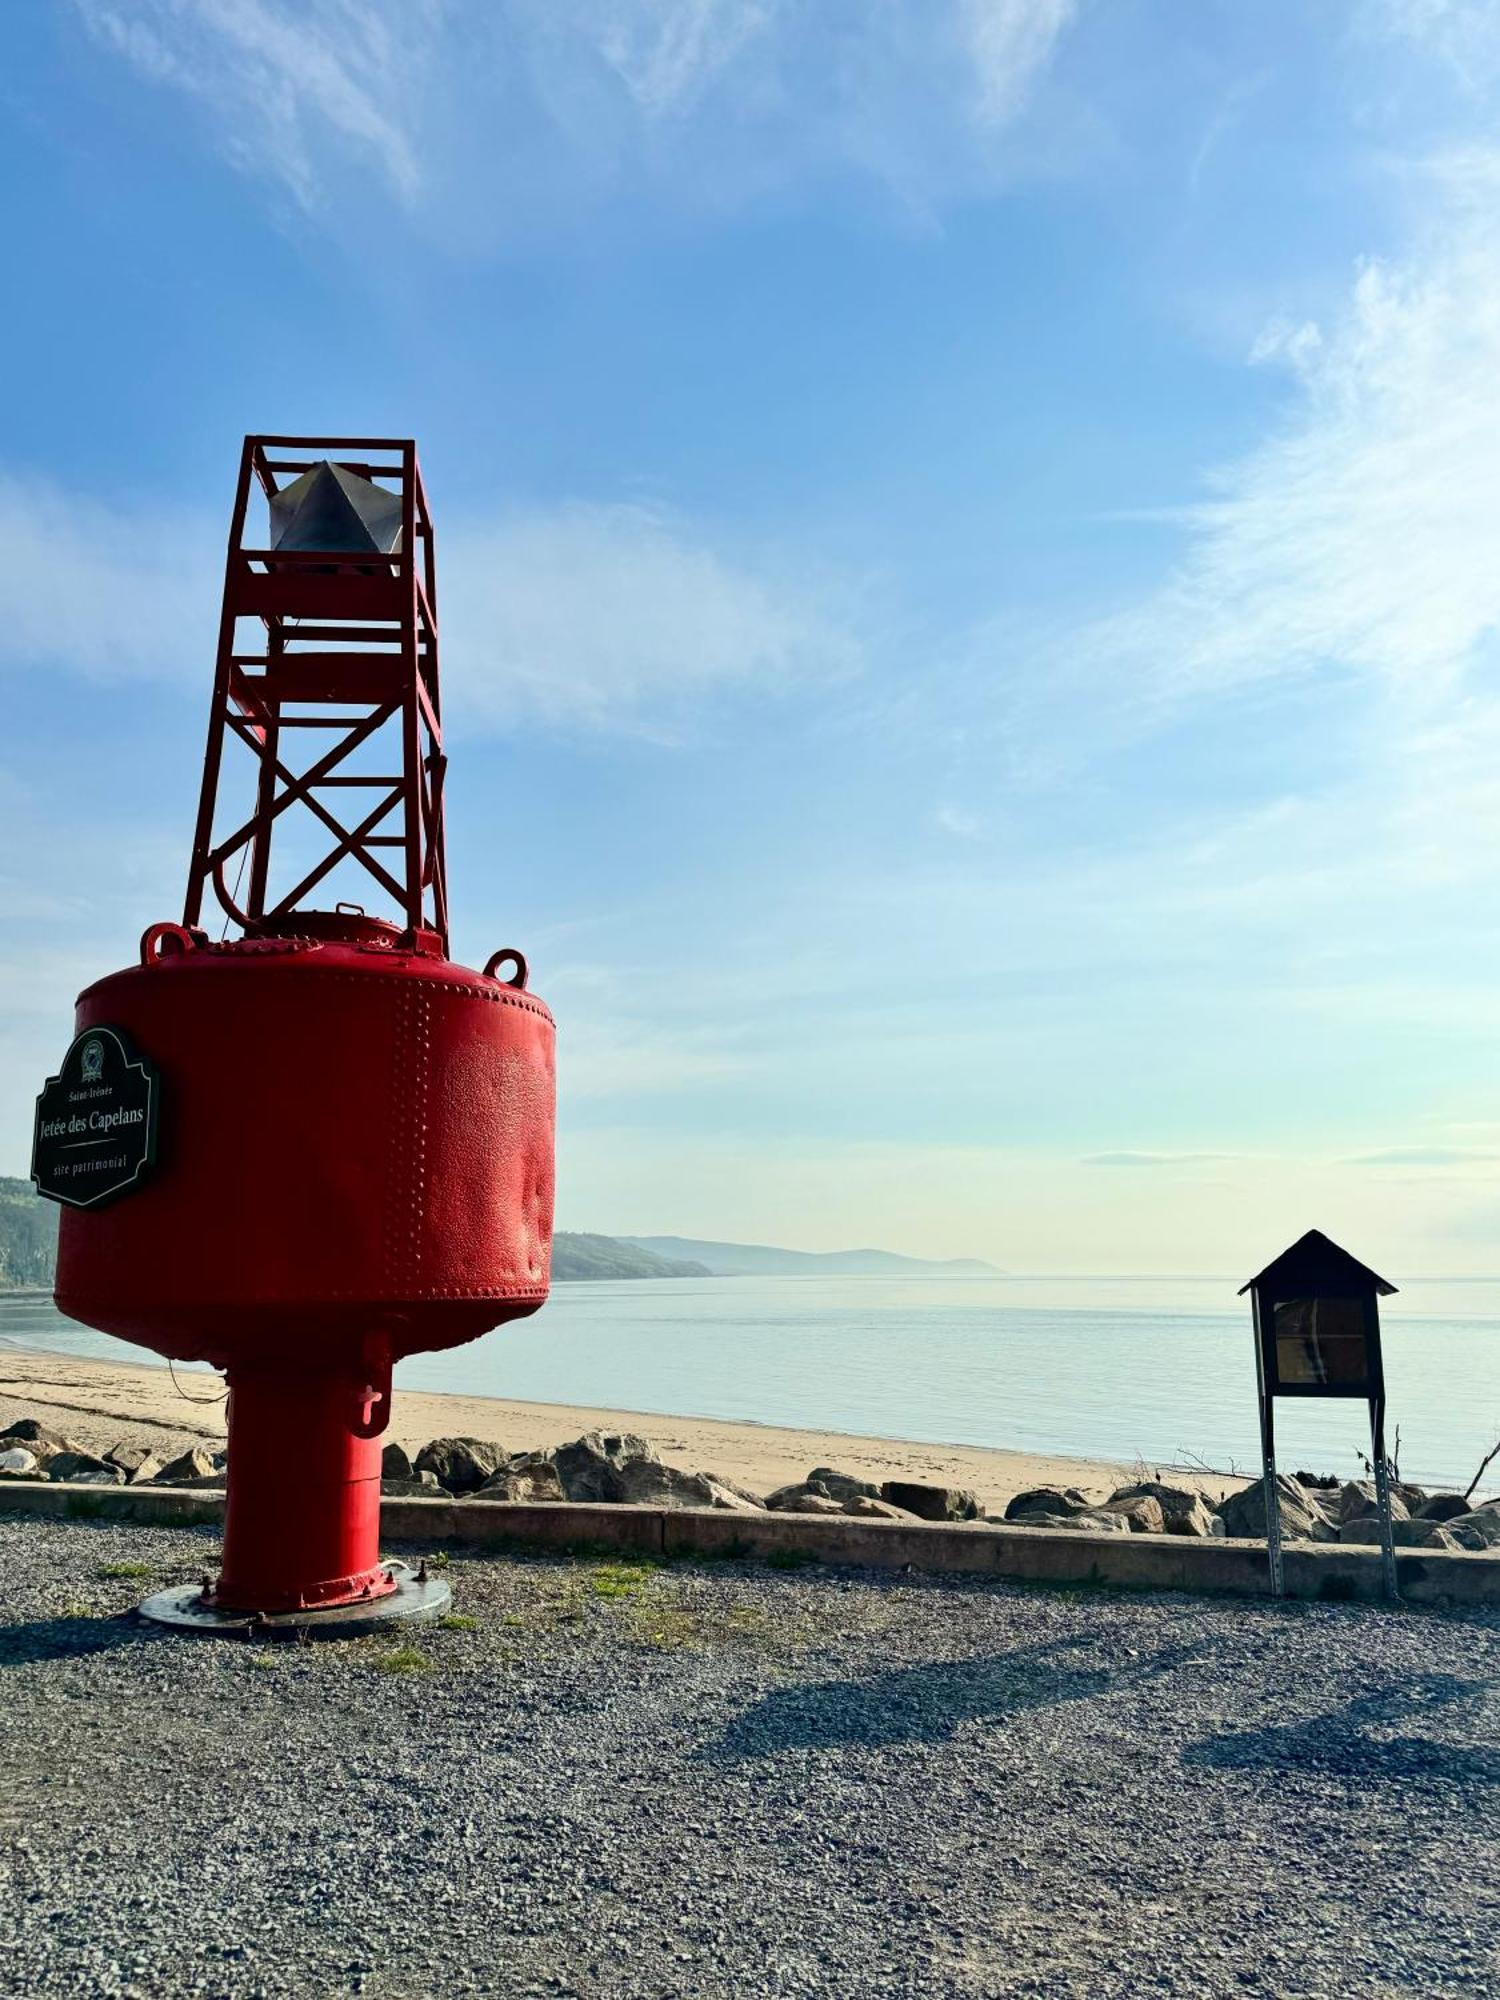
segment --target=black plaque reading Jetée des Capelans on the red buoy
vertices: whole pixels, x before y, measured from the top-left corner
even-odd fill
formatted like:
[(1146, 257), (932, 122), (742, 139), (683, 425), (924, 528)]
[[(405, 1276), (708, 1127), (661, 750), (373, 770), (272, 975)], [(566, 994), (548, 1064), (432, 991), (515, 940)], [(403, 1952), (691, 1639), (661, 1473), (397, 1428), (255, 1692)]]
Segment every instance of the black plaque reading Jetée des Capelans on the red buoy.
[(102, 1208), (156, 1162), (160, 1080), (122, 1028), (88, 1028), (36, 1100), (32, 1182), (68, 1208)]

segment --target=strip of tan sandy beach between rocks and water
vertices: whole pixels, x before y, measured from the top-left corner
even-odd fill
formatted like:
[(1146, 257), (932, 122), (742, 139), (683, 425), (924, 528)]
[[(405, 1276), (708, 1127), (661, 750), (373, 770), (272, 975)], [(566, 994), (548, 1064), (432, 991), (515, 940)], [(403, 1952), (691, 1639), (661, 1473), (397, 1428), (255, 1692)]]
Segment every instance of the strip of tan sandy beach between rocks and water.
[[(0, 1430), (36, 1416), (102, 1450), (120, 1438), (150, 1444), (158, 1456), (224, 1438), (224, 1388), (218, 1376), (166, 1366), (84, 1360), (0, 1344)], [(970, 1444), (912, 1444), (858, 1438), (836, 1430), (782, 1430), (772, 1424), (726, 1424), (702, 1416), (654, 1416), (586, 1404), (512, 1402), (500, 1396), (438, 1396), (396, 1390), (388, 1436), (416, 1448), (428, 1438), (492, 1438), (506, 1450), (550, 1448), (584, 1430), (634, 1430), (662, 1458), (690, 1472), (716, 1472), (766, 1494), (806, 1478), (812, 1466), (838, 1466), (868, 1480), (930, 1480), (972, 1488), (986, 1512), (1002, 1512), (1028, 1486), (1078, 1486), (1104, 1498), (1136, 1466), (1044, 1452), (1002, 1452)], [(1170, 1472), (1152, 1466), (1152, 1474)], [(1190, 1484), (1214, 1496), (1242, 1480), (1190, 1472)]]

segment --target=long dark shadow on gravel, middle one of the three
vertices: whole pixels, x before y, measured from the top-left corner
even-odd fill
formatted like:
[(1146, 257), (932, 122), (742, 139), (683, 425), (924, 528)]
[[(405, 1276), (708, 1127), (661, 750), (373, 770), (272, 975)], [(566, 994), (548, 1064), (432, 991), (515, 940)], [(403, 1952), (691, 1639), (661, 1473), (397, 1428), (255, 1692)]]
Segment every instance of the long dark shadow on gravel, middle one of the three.
[(710, 1744), (710, 1764), (772, 1756), (778, 1750), (832, 1750), (840, 1744), (946, 1742), (964, 1722), (1004, 1722), (1030, 1708), (1086, 1702), (1114, 1688), (1156, 1680), (1198, 1646), (1166, 1646), (1124, 1668), (1100, 1660), (1090, 1638), (1062, 1638), (984, 1660), (936, 1660), (870, 1680), (822, 1680), (778, 1688), (748, 1708)]

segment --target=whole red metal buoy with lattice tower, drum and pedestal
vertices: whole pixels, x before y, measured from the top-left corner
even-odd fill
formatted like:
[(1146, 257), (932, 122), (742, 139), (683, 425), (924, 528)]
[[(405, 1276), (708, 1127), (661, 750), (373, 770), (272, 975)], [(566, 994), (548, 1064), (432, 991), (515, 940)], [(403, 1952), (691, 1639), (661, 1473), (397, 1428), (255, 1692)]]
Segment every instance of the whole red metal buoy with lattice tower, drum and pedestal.
[[(222, 1612), (392, 1592), (392, 1366), (548, 1294), (552, 1016), (448, 960), (440, 714), (416, 448), (246, 438), (184, 916), (80, 996), (34, 1158), (62, 1310), (228, 1372)], [(390, 916), (304, 906), (352, 870)]]

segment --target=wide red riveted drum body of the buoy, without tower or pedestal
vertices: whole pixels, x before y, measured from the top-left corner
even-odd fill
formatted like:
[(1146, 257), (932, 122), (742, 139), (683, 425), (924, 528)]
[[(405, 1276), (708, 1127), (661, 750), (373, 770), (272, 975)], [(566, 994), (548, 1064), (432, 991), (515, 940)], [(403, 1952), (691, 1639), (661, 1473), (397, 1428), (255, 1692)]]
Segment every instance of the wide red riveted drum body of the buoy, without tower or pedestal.
[(174, 1360), (302, 1368), (544, 1302), (554, 1028), (532, 994), (394, 932), (242, 938), (100, 980), (94, 1026), (158, 1066), (160, 1138), (136, 1194), (62, 1212), (64, 1312)]

